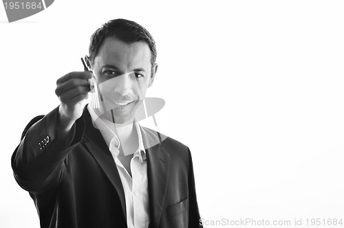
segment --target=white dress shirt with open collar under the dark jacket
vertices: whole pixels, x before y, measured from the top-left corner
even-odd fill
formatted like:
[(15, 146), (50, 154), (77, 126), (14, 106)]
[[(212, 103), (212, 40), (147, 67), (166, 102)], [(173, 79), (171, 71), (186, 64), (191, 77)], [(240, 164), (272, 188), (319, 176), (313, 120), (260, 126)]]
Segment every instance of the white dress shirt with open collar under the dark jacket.
[[(138, 133), (138, 149), (134, 152), (130, 161), (130, 176), (129, 172), (127, 172), (118, 159), (120, 140), (114, 131), (109, 130), (115, 127), (114, 124), (106, 119), (98, 117), (91, 106), (87, 106), (87, 109), (92, 117), (94, 125), (100, 130), (105, 142), (109, 146), (118, 173), (120, 174), (120, 181), (122, 181), (123, 190), (125, 192), (128, 228), (147, 228), (149, 225), (147, 157), (139, 124), (134, 122), (134, 126)], [(111, 139), (111, 141), (109, 139)]]

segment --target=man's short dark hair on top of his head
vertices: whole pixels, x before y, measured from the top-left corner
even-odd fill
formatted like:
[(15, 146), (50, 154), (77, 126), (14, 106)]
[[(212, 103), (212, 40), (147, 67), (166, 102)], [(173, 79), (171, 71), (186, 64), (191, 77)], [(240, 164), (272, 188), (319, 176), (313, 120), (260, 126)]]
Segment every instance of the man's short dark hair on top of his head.
[(153, 36), (135, 21), (125, 19), (108, 21), (92, 34), (89, 42), (89, 58), (92, 62), (94, 62), (94, 58), (96, 58), (105, 38), (108, 37), (117, 38), (127, 44), (136, 42), (146, 43), (151, 50), (151, 65), (153, 67), (156, 60), (156, 47)]

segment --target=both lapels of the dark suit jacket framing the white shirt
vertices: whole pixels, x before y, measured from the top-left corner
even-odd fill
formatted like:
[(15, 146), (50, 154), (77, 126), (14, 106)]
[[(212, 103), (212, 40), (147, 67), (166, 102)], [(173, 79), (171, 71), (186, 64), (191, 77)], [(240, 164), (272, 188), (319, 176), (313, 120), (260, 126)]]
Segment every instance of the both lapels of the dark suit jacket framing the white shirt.
[[(114, 185), (120, 198), (123, 214), (127, 220), (125, 192), (120, 181), (116, 163), (103, 139), (103, 135), (101, 135), (98, 129), (94, 128), (87, 107), (84, 109), (83, 118), (85, 120), (85, 146), (100, 168), (105, 172), (109, 181)], [(147, 154), (150, 226), (158, 227), (169, 179), (169, 153), (163, 146), (160, 133), (142, 126), (140, 126), (140, 130), (142, 132), (144, 148), (147, 148), (145, 151)], [(151, 139), (156, 139), (157, 137), (160, 139), (160, 143), (154, 144), (154, 146), (151, 145)]]

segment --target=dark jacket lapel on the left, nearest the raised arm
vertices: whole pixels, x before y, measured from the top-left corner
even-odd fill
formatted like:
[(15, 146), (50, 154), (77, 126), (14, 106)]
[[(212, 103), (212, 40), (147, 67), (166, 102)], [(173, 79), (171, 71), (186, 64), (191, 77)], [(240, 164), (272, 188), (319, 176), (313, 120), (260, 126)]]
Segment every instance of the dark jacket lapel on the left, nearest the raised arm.
[(91, 116), (86, 108), (83, 115), (85, 119), (85, 138), (88, 139), (88, 141), (85, 141), (85, 146), (92, 157), (97, 161), (100, 168), (105, 172), (105, 175), (109, 178), (112, 185), (116, 188), (118, 196), (120, 197), (120, 203), (122, 205), (125, 220), (127, 220), (125, 192), (122, 187), (122, 181), (120, 181), (120, 174), (118, 174), (114, 158), (112, 157), (109, 148), (107, 148), (103, 135), (98, 129), (94, 128)]

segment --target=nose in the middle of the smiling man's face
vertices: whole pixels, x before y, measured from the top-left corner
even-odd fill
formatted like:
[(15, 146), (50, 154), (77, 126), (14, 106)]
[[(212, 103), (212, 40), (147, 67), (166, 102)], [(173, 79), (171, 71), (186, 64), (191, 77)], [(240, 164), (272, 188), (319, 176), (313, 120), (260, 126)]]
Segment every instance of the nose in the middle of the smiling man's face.
[(138, 87), (138, 82), (134, 73), (125, 73), (121, 76), (116, 77), (116, 87), (115, 92), (120, 95), (127, 95), (133, 93), (136, 87)]

